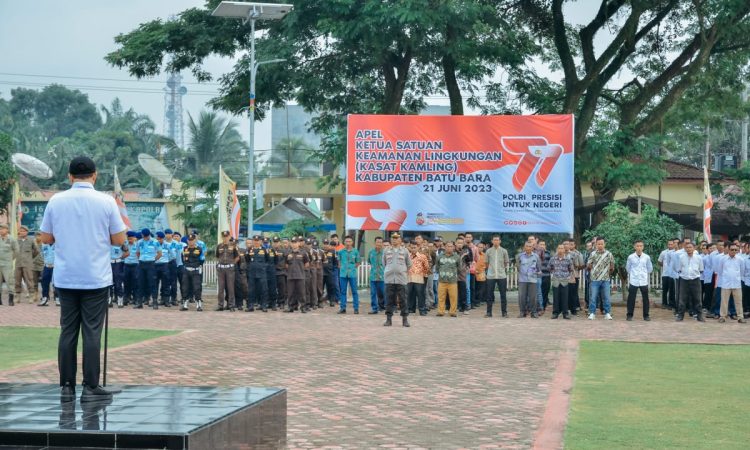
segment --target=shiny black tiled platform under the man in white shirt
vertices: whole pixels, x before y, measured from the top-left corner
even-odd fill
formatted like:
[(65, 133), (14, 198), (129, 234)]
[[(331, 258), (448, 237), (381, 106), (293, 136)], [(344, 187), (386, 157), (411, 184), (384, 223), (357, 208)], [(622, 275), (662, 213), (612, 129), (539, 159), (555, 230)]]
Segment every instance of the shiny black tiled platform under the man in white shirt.
[[(118, 386), (119, 387), (119, 386)], [(122, 386), (61, 403), (60, 387), (0, 383), (0, 449), (266, 449), (286, 445), (286, 390)]]

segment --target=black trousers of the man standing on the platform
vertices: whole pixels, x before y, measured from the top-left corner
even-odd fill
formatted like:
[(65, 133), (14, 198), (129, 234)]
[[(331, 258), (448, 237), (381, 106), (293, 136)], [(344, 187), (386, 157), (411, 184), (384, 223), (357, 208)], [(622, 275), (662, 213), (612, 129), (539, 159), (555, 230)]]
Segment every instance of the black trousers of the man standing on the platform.
[(83, 384), (99, 386), (99, 353), (109, 287), (62, 289), (60, 295), (60, 341), (57, 364), (60, 386), (75, 386), (78, 335), (83, 334)]

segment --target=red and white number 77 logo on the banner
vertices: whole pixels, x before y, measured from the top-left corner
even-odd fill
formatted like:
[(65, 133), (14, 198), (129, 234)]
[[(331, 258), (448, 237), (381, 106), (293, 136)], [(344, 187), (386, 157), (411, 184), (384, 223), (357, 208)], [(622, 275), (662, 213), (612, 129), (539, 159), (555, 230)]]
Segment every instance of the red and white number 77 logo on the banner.
[(501, 137), (500, 144), (511, 155), (521, 157), (513, 174), (513, 187), (518, 192), (523, 190), (534, 172), (536, 185), (544, 187), (564, 150), (562, 145), (550, 144), (542, 136)]

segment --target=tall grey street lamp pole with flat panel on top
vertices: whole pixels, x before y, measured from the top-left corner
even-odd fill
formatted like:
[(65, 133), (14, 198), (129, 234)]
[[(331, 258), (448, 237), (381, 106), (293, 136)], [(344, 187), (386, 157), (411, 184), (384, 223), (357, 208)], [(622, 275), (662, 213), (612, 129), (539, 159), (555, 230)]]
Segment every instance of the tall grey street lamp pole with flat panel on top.
[(255, 192), (255, 76), (258, 67), (263, 64), (285, 61), (284, 59), (272, 59), (269, 61), (255, 61), (255, 22), (257, 20), (281, 19), (289, 13), (293, 5), (281, 3), (250, 3), (238, 1), (223, 1), (211, 13), (212, 16), (244, 19), (250, 22), (250, 98), (248, 115), (250, 118), (250, 142), (248, 145), (247, 158), (247, 234), (253, 231), (253, 213), (255, 205), (253, 197)]

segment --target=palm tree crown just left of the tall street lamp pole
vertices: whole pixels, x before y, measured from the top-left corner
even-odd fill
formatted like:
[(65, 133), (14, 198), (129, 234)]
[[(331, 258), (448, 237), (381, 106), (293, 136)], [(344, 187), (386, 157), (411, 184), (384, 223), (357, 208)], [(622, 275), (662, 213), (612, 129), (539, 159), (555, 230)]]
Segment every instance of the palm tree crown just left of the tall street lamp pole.
[(188, 165), (201, 177), (218, 173), (219, 165), (242, 163), (247, 148), (237, 123), (212, 111), (201, 111), (198, 121), (188, 113)]

